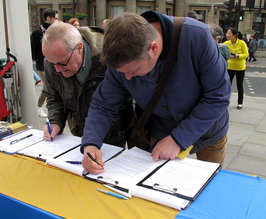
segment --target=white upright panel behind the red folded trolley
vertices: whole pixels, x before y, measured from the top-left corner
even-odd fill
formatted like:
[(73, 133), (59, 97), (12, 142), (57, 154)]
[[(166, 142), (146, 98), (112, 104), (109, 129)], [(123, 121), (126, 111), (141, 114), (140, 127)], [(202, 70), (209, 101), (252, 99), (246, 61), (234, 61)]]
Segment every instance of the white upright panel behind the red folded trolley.
[[(20, 75), (21, 123), (41, 128), (31, 60), (30, 28), (27, 0), (9, 0), (6, 16), (10, 53), (17, 58)], [(3, 4), (0, 4), (0, 58), (6, 58)], [(11, 58), (13, 61), (13, 59)]]

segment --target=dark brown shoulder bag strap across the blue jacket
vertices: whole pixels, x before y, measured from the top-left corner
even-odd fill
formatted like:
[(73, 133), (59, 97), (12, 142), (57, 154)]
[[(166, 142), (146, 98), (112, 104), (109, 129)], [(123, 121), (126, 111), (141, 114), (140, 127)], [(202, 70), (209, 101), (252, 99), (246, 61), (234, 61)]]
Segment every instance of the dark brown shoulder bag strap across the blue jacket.
[(162, 93), (166, 87), (166, 84), (168, 82), (169, 76), (172, 72), (173, 65), (176, 61), (177, 58), (177, 50), (178, 50), (178, 41), (179, 41), (179, 36), (181, 32), (181, 28), (183, 25), (184, 17), (175, 17), (174, 23), (173, 23), (173, 36), (172, 36), (172, 42), (171, 46), (167, 55), (166, 62), (164, 64), (164, 68), (162, 70), (162, 74), (160, 76), (158, 86), (149, 101), (148, 105), (146, 106), (144, 112), (140, 116), (140, 119), (137, 121), (137, 124), (135, 125), (136, 128), (141, 130), (149, 117), (151, 116), (151, 113), (155, 106), (158, 104)]

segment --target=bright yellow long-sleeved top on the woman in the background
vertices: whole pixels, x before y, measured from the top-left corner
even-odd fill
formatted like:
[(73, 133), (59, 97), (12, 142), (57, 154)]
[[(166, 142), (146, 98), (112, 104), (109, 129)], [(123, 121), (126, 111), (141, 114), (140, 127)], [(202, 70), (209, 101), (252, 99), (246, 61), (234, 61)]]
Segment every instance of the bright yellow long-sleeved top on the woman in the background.
[(249, 56), (248, 48), (243, 40), (236, 40), (233, 46), (231, 40), (225, 41), (223, 44), (228, 45), (229, 52), (239, 54), (239, 58), (228, 59), (228, 69), (241, 71), (246, 68), (246, 58)]

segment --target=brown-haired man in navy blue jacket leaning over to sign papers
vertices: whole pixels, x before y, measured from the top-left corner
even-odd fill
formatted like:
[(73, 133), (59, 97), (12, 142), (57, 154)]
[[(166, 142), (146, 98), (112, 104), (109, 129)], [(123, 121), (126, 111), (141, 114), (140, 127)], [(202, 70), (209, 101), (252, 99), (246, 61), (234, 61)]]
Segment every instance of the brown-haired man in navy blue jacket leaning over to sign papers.
[[(141, 16), (127, 12), (107, 26), (102, 56), (107, 71), (93, 95), (82, 138), (82, 165), (90, 173), (104, 171), (99, 149), (125, 92), (141, 109), (150, 101), (170, 47), (173, 20), (153, 11)], [(174, 159), (180, 149), (193, 144), (191, 153), (197, 159), (223, 164), (230, 95), (226, 65), (210, 30), (195, 19), (184, 18), (177, 61), (148, 120), (151, 141), (161, 139), (151, 153), (153, 159)]]

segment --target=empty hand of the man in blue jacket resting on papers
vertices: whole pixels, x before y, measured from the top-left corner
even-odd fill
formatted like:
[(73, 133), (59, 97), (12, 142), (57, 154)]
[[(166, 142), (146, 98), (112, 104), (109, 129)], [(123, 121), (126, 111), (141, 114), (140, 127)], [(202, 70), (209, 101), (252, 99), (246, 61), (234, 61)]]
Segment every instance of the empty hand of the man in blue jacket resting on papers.
[(154, 161), (158, 159), (173, 160), (180, 151), (180, 147), (169, 135), (159, 141), (153, 149), (151, 156)]

